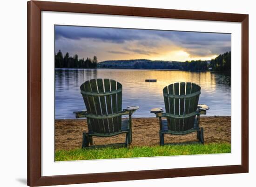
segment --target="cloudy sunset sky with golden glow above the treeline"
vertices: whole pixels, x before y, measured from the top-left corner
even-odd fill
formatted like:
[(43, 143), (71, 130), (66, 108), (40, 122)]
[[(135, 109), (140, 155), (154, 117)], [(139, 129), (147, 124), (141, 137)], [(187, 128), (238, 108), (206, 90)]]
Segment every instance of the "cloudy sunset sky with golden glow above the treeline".
[(55, 53), (104, 60), (210, 60), (230, 51), (231, 35), (105, 27), (55, 26)]

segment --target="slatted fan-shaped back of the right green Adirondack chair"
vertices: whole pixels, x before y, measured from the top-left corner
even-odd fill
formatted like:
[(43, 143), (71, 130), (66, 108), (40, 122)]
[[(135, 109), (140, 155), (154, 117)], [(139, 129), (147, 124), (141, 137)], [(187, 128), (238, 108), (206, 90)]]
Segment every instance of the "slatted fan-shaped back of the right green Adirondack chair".
[(200, 90), (200, 86), (190, 82), (170, 84), (163, 89), (166, 114), (171, 114), (171, 117), (167, 117), (169, 130), (186, 131), (194, 128), (195, 115), (188, 115), (197, 110)]

